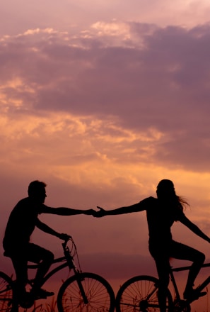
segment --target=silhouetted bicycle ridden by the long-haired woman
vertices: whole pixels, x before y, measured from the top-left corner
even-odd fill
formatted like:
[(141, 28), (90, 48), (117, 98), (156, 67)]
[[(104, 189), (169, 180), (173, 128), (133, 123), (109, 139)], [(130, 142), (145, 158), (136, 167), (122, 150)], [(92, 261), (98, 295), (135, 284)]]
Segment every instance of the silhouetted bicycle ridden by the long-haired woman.
[[(202, 267), (210, 267), (210, 263)], [(170, 290), (167, 291), (167, 312), (190, 312), (190, 304), (199, 299), (194, 297), (191, 300), (181, 299), (173, 272), (186, 271), (189, 267), (170, 267), (170, 282), (173, 285), (175, 296), (173, 298)], [(210, 276), (202, 284), (197, 286), (197, 293), (201, 292), (210, 282)], [(158, 312), (158, 279), (149, 275), (139, 275), (128, 279), (119, 288), (116, 296), (117, 312)]]

